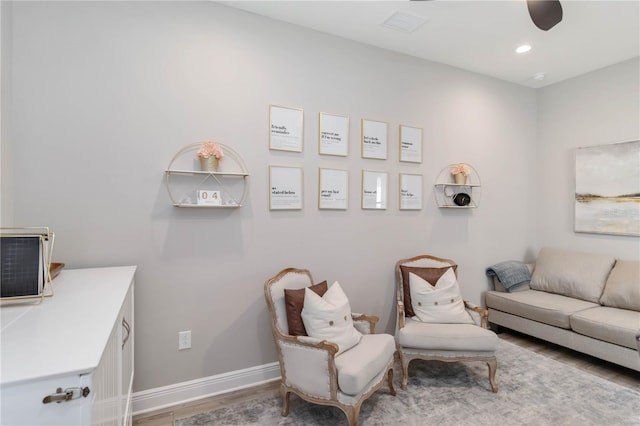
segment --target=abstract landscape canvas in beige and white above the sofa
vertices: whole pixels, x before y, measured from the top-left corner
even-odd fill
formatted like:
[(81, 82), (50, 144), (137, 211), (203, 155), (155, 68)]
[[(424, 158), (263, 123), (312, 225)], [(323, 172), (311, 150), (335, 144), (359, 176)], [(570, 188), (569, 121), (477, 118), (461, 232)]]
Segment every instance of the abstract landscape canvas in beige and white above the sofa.
[(640, 141), (576, 150), (574, 226), (640, 236)]

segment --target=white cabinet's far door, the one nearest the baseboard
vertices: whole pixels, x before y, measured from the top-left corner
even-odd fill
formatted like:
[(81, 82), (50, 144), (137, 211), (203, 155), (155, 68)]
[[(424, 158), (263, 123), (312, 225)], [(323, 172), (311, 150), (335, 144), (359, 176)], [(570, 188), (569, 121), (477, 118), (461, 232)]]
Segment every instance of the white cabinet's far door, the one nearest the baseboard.
[(123, 425), (131, 424), (131, 405), (133, 388), (133, 350), (134, 350), (134, 326), (133, 326), (133, 284), (127, 293), (122, 312), (120, 314), (121, 351), (122, 364), (120, 371), (120, 398)]

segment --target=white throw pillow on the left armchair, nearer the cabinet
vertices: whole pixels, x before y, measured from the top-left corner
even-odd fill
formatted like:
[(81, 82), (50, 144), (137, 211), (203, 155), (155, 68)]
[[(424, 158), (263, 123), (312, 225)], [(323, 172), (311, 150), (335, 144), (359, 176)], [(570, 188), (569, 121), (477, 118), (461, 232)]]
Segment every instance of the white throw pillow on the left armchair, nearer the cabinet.
[(322, 297), (305, 289), (302, 322), (309, 336), (337, 344), (336, 355), (351, 349), (362, 338), (353, 326), (349, 299), (338, 281)]

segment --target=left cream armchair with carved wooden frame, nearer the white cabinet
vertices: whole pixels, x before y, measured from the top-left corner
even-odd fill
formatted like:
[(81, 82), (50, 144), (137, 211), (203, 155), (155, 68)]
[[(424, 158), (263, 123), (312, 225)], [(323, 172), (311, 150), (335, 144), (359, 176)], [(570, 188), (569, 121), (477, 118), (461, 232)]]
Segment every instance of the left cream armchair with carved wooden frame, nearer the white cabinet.
[(264, 294), (271, 315), (271, 329), (280, 361), (282, 415), (289, 414), (289, 393), (321, 405), (338, 407), (350, 426), (358, 424), (360, 406), (385, 382), (393, 388), (394, 338), (374, 334), (378, 317), (352, 314), (363, 336), (357, 345), (336, 355), (338, 345), (309, 336), (289, 334), (285, 289), (313, 285), (306, 269), (287, 268), (268, 279)]

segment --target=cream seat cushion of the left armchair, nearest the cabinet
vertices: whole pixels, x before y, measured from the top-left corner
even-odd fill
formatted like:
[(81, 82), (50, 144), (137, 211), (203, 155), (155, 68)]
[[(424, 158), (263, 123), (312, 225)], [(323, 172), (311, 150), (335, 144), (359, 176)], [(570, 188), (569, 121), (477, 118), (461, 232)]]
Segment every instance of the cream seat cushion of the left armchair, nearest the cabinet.
[(384, 371), (396, 351), (393, 336), (366, 334), (360, 343), (336, 356), (338, 387), (342, 393), (356, 395)]

